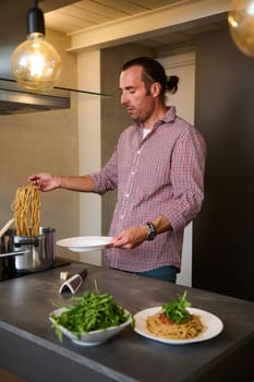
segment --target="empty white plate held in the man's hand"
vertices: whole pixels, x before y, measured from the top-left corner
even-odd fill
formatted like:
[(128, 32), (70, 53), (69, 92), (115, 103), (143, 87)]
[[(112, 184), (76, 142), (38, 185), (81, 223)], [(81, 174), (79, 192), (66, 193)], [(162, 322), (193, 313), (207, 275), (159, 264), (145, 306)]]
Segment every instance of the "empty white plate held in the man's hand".
[(75, 238), (58, 240), (57, 244), (66, 247), (73, 252), (88, 252), (104, 249), (105, 246), (110, 244), (112, 239), (110, 236), (77, 236)]

